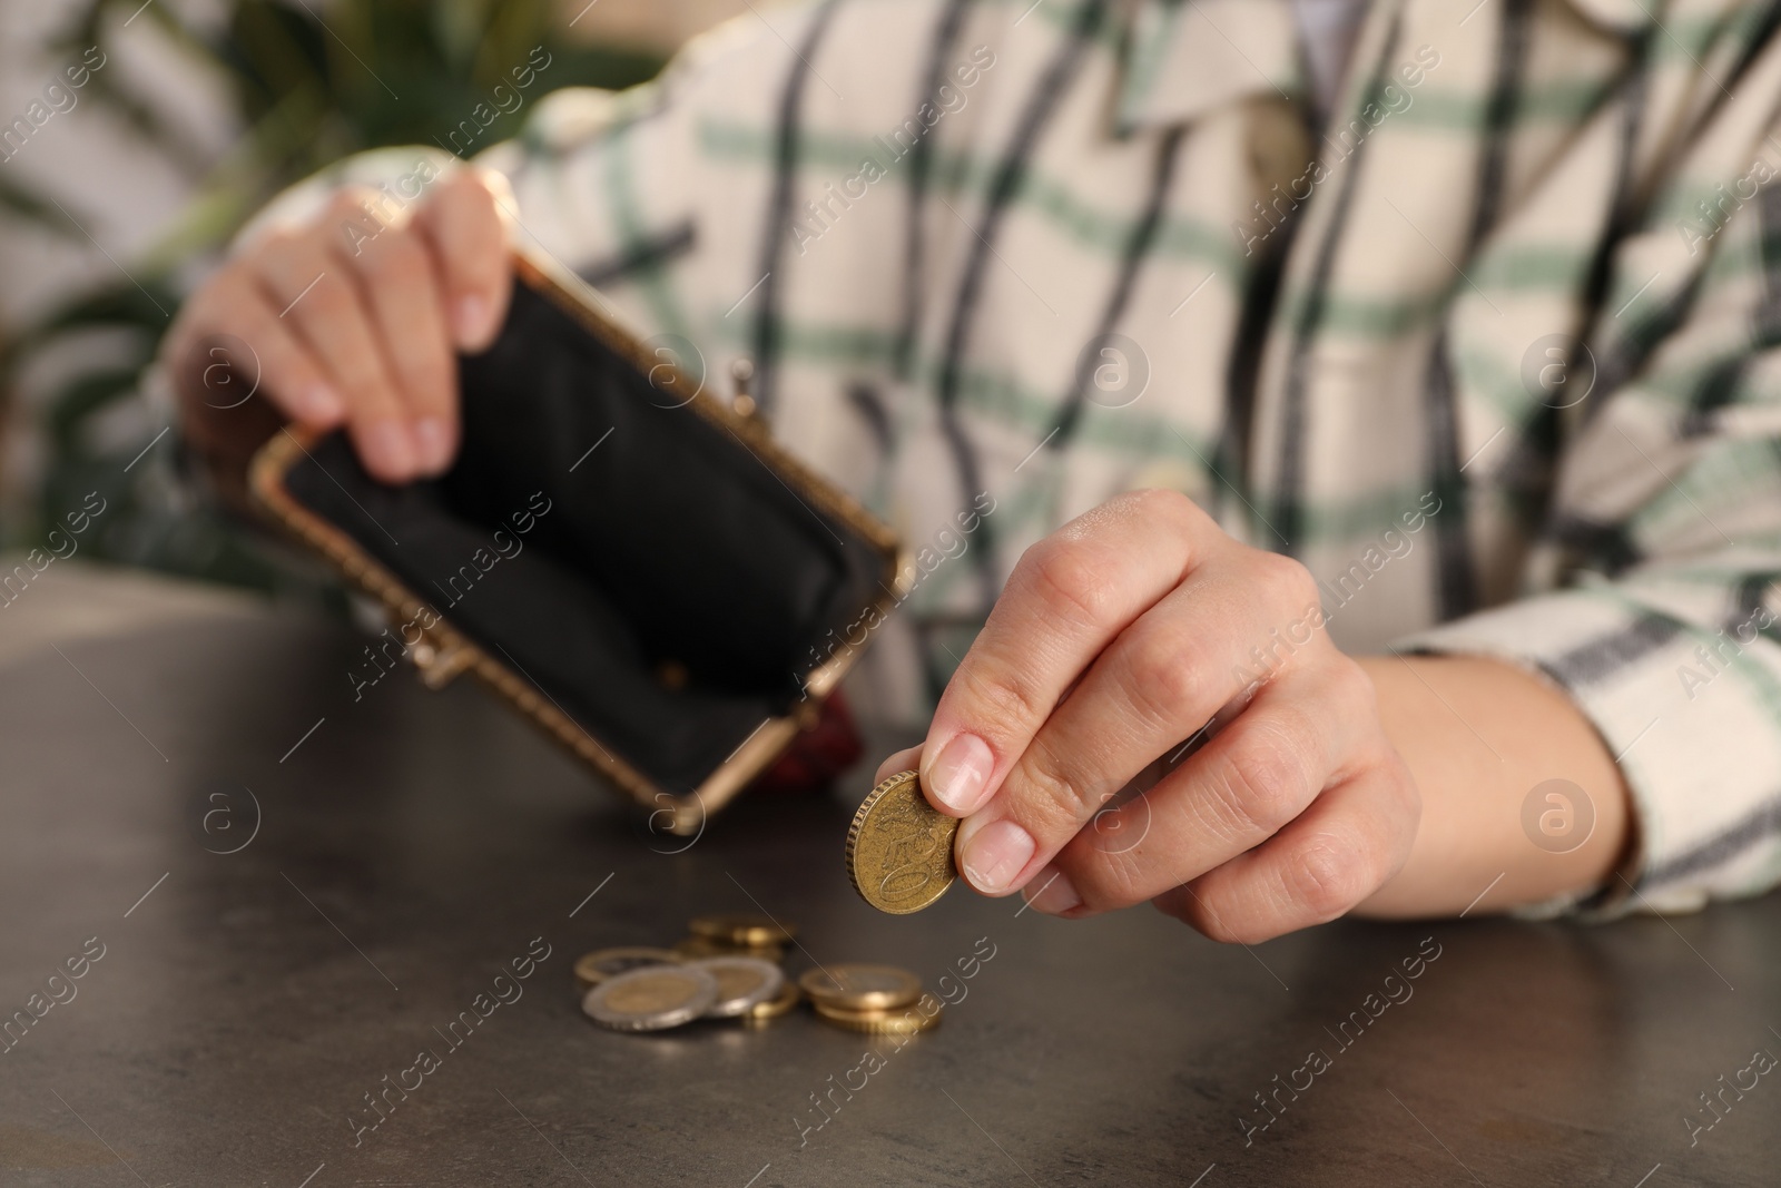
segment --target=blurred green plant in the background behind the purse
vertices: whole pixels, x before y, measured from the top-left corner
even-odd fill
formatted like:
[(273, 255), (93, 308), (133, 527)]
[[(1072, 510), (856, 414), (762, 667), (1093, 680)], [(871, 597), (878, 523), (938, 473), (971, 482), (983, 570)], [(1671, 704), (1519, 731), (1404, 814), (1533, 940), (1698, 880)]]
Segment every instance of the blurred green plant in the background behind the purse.
[[(217, 159), (132, 89), (125, 71), (93, 75), (87, 96), (192, 176), (196, 194), (160, 242), (130, 262), (134, 281), (119, 276), (80, 292), (0, 337), (0, 397), (16, 390), (34, 360), (52, 353), (93, 360), (69, 369), (41, 404), (43, 483), (27, 522), (5, 525), (5, 543), (41, 543), (62, 509), (98, 490), (109, 509), (85, 556), (313, 593), (312, 577), (287, 570), (253, 533), (191, 497), (173, 465), (178, 426), (157, 420), (167, 413), (142, 397), (144, 372), (182, 297), (180, 278), (269, 198), (322, 166), (365, 148), (440, 144), (458, 119), (490, 103), (495, 84), (508, 82), (534, 46), (552, 55), (540, 91), (625, 87), (663, 62), (566, 43), (552, 0), (233, 0), (226, 20), (205, 27), (187, 25), (166, 4), (89, 0), (55, 48), (77, 55), (107, 48), (112, 30), (137, 12), (157, 21), (196, 69), (221, 80), (242, 132)], [(513, 135), (522, 121), (524, 110), (500, 116), (476, 148)], [(85, 242), (78, 203), (5, 176), (0, 217)], [(82, 351), (87, 340), (103, 349)], [(157, 438), (162, 431), (166, 438)]]

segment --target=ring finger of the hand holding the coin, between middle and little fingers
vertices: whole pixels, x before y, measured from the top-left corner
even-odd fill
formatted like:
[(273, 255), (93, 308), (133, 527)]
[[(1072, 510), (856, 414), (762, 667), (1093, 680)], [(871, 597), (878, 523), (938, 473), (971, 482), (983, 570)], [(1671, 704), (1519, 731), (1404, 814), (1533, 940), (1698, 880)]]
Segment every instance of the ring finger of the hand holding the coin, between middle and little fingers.
[(1395, 759), (1375, 723), (1373, 686), (1345, 657), (1263, 686), (1186, 764), (1095, 814), (1033, 876), (1033, 907), (1088, 915), (1143, 903), (1261, 846), (1325, 787)]

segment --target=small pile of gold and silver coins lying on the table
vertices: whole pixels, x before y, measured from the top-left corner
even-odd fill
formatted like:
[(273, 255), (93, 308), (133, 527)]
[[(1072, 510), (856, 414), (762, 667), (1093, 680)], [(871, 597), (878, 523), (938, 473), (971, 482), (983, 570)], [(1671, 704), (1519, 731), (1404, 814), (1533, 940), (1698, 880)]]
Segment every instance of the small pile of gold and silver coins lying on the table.
[(793, 935), (764, 915), (700, 915), (671, 949), (586, 953), (575, 962), (581, 1008), (614, 1031), (664, 1031), (696, 1019), (759, 1028), (805, 996), (819, 1019), (850, 1031), (910, 1035), (940, 1022), (940, 1003), (907, 969), (817, 965), (793, 981), (780, 969)]

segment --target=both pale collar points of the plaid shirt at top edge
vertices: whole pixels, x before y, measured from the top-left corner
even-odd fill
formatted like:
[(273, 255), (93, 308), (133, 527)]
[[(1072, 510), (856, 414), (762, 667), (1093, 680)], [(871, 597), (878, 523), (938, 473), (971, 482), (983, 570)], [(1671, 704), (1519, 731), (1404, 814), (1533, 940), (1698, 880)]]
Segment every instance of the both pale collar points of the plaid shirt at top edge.
[[(1375, 7), (1393, 2), (1373, 0)], [(1653, 2), (1569, 0), (1592, 25), (1621, 37), (1656, 20)], [(1309, 85), (1291, 2), (1136, 0), (1117, 87), (1118, 135), (1188, 123), (1257, 94), (1304, 100)]]

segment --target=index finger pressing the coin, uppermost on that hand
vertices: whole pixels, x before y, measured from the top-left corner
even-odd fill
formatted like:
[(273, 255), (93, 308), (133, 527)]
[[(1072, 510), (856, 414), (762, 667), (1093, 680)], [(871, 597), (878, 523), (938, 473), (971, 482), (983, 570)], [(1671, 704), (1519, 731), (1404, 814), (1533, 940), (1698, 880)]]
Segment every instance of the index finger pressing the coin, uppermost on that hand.
[(1218, 540), (1184, 497), (1138, 492), (1029, 549), (935, 709), (921, 766), (928, 800), (976, 812), (1095, 655)]

